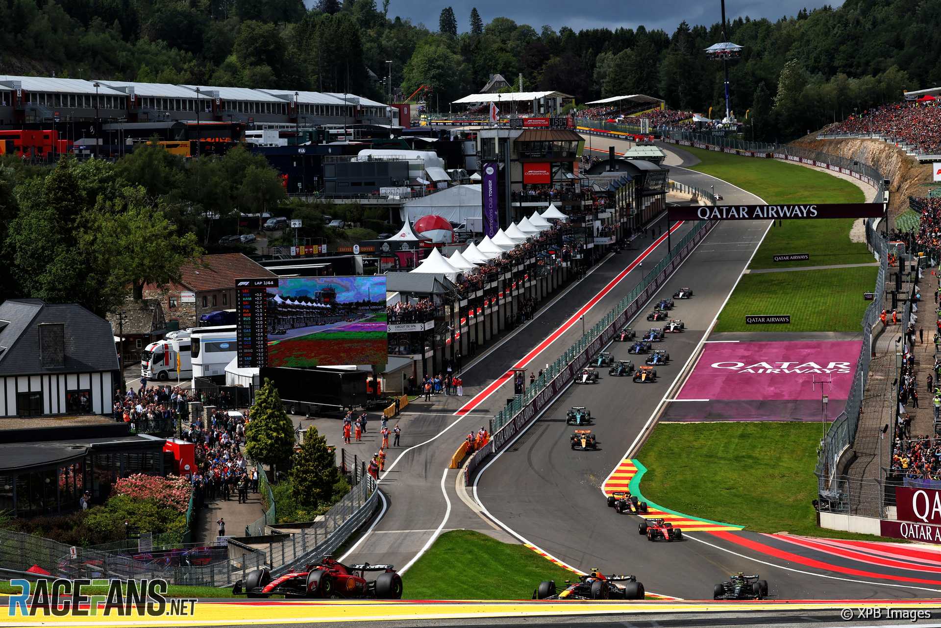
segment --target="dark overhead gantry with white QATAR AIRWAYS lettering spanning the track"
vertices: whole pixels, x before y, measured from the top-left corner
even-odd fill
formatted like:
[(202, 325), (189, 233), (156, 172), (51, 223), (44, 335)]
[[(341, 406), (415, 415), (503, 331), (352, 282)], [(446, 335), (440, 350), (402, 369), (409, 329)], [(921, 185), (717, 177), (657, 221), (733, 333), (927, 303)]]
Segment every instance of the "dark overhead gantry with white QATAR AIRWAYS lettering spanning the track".
[(776, 218), (880, 218), (882, 203), (822, 203), (818, 205), (702, 205), (671, 206), (670, 220), (766, 220)]

